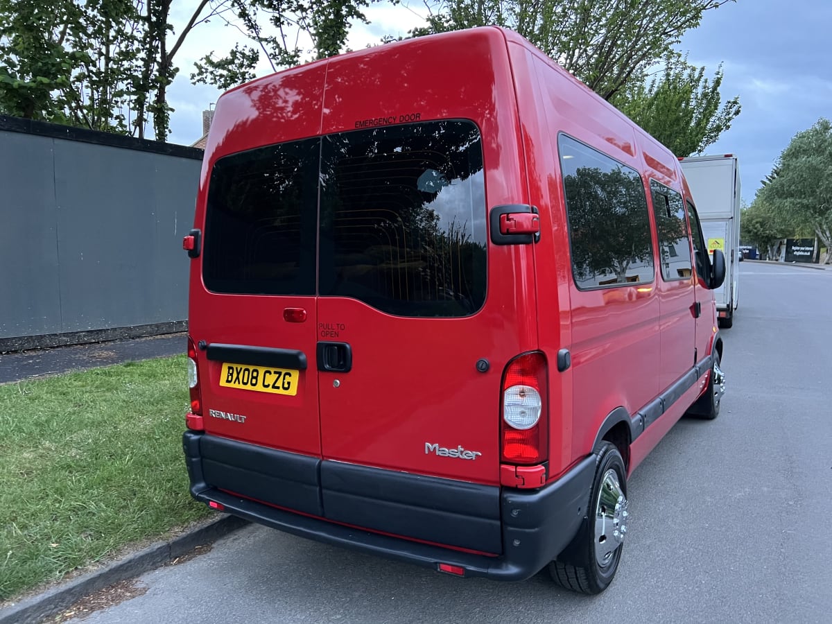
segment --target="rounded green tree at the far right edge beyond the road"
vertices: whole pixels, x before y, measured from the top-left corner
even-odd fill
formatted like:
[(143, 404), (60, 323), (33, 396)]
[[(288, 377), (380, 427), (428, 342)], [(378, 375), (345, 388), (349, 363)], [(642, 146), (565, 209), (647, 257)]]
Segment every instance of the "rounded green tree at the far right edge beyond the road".
[[(780, 154), (757, 199), (795, 230), (811, 230), (832, 251), (832, 123), (821, 118), (798, 132)], [(755, 200), (756, 201), (756, 200)], [(826, 255), (832, 264), (832, 253)]]

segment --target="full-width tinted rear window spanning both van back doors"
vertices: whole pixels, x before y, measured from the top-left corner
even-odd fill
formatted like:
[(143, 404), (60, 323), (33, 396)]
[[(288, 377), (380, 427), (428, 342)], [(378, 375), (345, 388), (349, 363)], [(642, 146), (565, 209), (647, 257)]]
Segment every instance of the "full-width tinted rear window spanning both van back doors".
[(466, 316), (485, 301), (486, 237), (477, 126), (382, 126), (217, 161), (203, 279), (221, 293)]

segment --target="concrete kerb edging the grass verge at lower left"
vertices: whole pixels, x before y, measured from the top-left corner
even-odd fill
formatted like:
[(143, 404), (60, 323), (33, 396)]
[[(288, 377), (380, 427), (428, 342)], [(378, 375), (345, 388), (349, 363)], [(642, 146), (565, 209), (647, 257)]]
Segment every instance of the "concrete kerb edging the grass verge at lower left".
[(11, 607), (0, 609), (0, 624), (38, 624), (53, 617), (75, 602), (113, 583), (137, 577), (172, 562), (197, 546), (215, 542), (249, 522), (225, 516), (184, 533), (167, 542), (159, 542), (139, 552), (107, 564), (67, 583), (52, 587), (37, 596), (26, 598)]

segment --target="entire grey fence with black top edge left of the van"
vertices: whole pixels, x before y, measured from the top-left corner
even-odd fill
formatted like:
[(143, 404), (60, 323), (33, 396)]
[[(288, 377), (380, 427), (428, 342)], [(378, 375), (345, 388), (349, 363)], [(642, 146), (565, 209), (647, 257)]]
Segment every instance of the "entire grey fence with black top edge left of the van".
[(191, 148), (0, 116), (0, 351), (181, 329), (200, 169)]

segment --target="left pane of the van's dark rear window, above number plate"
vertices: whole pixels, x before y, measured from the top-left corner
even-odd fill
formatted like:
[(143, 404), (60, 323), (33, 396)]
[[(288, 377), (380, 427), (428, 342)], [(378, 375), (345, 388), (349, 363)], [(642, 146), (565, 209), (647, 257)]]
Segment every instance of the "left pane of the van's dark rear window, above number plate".
[(315, 138), (216, 162), (203, 250), (206, 288), (314, 295), (319, 154)]

